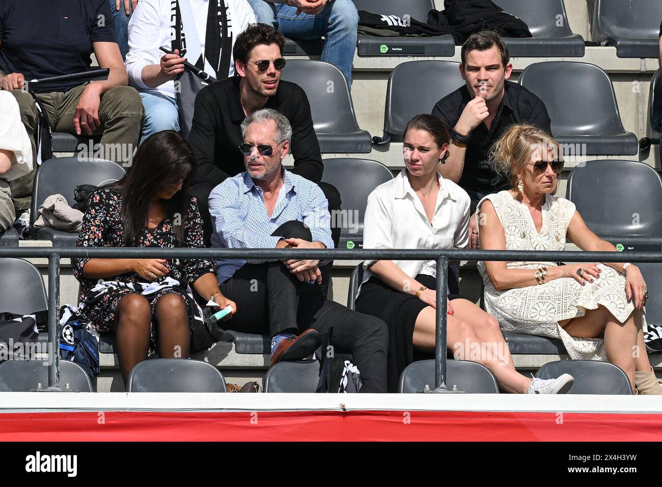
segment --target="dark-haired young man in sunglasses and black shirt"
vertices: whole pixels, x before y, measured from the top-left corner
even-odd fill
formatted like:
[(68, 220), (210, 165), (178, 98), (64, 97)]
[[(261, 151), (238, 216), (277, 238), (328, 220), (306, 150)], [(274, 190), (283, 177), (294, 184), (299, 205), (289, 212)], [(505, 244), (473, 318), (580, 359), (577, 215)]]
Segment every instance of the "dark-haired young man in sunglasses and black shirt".
[[(303, 89), (281, 80), (286, 68), (282, 52), (285, 38), (273, 27), (254, 24), (237, 36), (233, 48), (235, 76), (204, 87), (195, 98), (195, 113), (189, 144), (197, 160), (191, 194), (198, 200), (205, 219), (205, 240), (209, 243), (211, 223), (207, 199), (211, 190), (226, 178), (245, 170), (241, 124), (246, 116), (263, 108), (279, 111), (292, 127), (291, 154), (293, 174), (312, 181), (322, 189), (330, 211), (340, 210), (340, 193), (322, 183), (320, 144), (312, 126), (310, 103)], [(332, 229), (334, 245), (340, 239), (340, 227)], [(330, 272), (329, 266), (323, 273)], [(329, 277), (329, 276), (326, 276)], [(327, 278), (322, 284), (326, 294)]]

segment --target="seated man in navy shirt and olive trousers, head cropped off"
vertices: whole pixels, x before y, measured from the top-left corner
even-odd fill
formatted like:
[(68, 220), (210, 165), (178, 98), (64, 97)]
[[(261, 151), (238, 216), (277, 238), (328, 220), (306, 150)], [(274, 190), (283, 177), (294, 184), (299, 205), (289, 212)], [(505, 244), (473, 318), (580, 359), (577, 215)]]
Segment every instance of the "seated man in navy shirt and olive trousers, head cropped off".
[[(101, 68), (110, 69), (105, 81), (28, 82), (89, 71), (92, 52)], [(40, 115), (26, 87), (38, 94), (54, 132), (101, 135), (101, 146), (87, 155), (128, 162), (125, 155), (138, 143), (143, 109), (138, 92), (126, 85), (108, 0), (0, 1), (0, 69), (0, 86), (19, 102), (34, 162)], [(30, 207), (36, 168), (12, 182), (19, 211)]]

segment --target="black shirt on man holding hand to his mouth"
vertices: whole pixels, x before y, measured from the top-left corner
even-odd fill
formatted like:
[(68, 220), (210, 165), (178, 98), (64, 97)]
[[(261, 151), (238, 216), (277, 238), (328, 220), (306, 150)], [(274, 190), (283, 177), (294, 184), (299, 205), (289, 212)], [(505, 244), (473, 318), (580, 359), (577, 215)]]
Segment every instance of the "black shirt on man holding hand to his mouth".
[[(467, 103), (474, 97), (469, 95), (466, 85), (440, 99), (432, 109), (432, 115), (440, 117), (449, 129), (453, 129)], [(464, 158), (464, 170), (459, 186), (467, 191), (489, 194), (510, 188), (506, 178), (498, 178), (489, 164), (492, 144), (513, 123), (529, 122), (551, 134), (551, 121), (547, 108), (540, 98), (525, 87), (506, 81), (503, 100), (492, 121), (490, 130), (481, 123), (471, 133)]]

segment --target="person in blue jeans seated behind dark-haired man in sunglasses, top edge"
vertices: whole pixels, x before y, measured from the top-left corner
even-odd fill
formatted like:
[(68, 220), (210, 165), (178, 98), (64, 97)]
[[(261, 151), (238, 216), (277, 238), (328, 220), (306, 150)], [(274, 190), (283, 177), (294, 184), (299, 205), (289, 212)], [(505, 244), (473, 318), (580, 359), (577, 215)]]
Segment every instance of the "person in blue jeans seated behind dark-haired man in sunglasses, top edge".
[(322, 61), (333, 64), (352, 85), (352, 60), (359, 14), (352, 0), (248, 0), (258, 22), (284, 36), (310, 40), (324, 36)]

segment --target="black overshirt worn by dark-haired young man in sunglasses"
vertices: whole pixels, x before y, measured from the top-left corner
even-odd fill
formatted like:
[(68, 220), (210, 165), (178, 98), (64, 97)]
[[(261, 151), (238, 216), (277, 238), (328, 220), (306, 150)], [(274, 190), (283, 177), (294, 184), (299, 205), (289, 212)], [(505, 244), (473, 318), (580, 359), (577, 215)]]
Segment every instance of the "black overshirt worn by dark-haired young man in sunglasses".
[[(198, 168), (192, 184), (220, 184), (246, 170), (244, 154), (239, 150), (239, 145), (244, 142), (241, 125), (246, 118), (239, 95), (240, 80), (239, 76), (232, 76), (211, 83), (195, 97), (189, 144)], [(312, 127), (310, 104), (303, 89), (281, 80), (278, 91), (267, 99), (264, 108), (279, 111), (292, 126), (294, 168), (291, 172), (312, 182), (320, 182), (324, 169), (320, 144)]]

